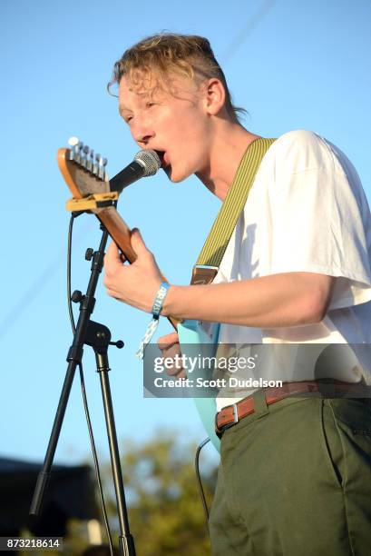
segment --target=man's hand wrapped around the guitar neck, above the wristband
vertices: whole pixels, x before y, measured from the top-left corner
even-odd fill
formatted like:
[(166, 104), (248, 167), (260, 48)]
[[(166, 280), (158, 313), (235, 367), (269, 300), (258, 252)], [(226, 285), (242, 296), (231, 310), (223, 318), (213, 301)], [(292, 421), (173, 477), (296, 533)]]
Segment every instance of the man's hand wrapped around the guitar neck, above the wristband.
[(112, 242), (104, 257), (103, 283), (108, 295), (151, 313), (154, 298), (162, 282), (161, 272), (138, 229), (132, 230), (131, 239), (137, 260), (132, 264), (122, 264), (119, 249)]

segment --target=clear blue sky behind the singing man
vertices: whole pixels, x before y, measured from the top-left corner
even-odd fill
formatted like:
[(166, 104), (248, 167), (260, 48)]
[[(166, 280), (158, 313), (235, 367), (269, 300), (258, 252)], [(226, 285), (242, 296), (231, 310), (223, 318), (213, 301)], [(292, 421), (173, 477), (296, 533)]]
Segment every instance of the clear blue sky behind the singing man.
[[(228, 6), (228, 9), (227, 9)], [(0, 343), (0, 455), (44, 458), (72, 341), (65, 286), (69, 192), (55, 154), (69, 136), (108, 157), (117, 174), (137, 152), (106, 93), (123, 51), (161, 30), (205, 35), (225, 69), (235, 104), (249, 111), (245, 126), (275, 137), (309, 129), (337, 144), (356, 165), (371, 194), (371, 5), (366, 0), (242, 0), (140, 4), (96, 0), (36, 0), (0, 5), (2, 47), (3, 230)], [(160, 218), (153, 207), (161, 207)], [(189, 283), (190, 269), (219, 201), (191, 177), (171, 184), (159, 173), (125, 190), (120, 212), (138, 226), (172, 283)], [(84, 290), (87, 247), (100, 233), (92, 216), (75, 223), (73, 289)], [(112, 338), (113, 406), (119, 438), (143, 440), (173, 427), (202, 440), (192, 402), (143, 399), (142, 364), (134, 357), (149, 317), (97, 289), (93, 319)], [(161, 333), (170, 332), (166, 322)], [(97, 447), (106, 455), (100, 385), (90, 348), (84, 371)], [(124, 449), (124, 448), (123, 448)], [(80, 382), (73, 392), (56, 452), (58, 462), (89, 454)]]

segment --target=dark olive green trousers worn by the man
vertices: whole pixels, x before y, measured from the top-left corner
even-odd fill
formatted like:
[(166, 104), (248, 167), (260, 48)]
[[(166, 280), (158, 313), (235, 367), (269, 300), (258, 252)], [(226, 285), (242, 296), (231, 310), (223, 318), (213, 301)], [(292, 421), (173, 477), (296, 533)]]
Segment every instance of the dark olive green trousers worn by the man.
[(370, 406), (254, 399), (221, 439), (212, 556), (370, 556)]

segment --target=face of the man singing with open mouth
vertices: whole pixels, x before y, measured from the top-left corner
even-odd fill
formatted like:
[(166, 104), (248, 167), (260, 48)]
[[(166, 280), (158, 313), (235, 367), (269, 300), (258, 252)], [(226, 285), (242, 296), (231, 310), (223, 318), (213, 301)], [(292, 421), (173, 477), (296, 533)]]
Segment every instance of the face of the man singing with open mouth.
[(124, 76), (119, 108), (134, 141), (142, 149), (161, 152), (171, 182), (207, 169), (210, 118), (202, 87), (179, 76), (172, 76), (166, 89), (148, 81), (133, 86)]

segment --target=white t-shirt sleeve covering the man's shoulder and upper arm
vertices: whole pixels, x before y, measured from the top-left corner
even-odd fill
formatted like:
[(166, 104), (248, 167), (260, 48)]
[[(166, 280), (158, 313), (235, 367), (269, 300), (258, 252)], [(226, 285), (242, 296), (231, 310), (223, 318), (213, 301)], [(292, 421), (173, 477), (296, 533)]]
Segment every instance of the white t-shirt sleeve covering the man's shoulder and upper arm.
[(329, 310), (371, 299), (371, 217), (353, 165), (310, 132), (283, 136), (270, 188), (271, 273), (337, 277)]

